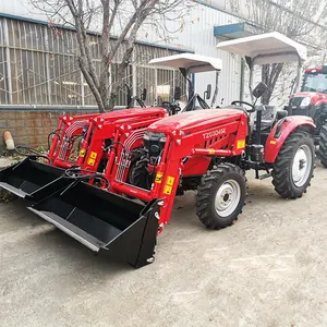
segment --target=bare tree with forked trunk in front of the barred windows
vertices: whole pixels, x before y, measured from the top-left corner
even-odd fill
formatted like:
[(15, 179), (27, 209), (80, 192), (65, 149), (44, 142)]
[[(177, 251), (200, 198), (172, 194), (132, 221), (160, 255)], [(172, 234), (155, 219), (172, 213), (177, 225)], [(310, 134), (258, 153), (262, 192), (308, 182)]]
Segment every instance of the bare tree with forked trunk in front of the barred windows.
[[(35, 8), (76, 31), (78, 66), (100, 112), (113, 110), (140, 28), (149, 24), (164, 29), (162, 21), (182, 19), (191, 8), (190, 0), (31, 0)], [(96, 26), (96, 27), (95, 27)], [(100, 31), (100, 70), (92, 51), (89, 28)], [(182, 28), (182, 24), (181, 24)], [(165, 34), (166, 35), (166, 34)], [(122, 53), (111, 84), (110, 65)]]

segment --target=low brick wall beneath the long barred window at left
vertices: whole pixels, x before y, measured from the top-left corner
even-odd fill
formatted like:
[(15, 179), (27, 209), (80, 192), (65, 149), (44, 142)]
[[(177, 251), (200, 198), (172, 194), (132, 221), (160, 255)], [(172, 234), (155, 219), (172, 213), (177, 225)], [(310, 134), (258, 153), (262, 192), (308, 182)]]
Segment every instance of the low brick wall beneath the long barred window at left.
[(31, 147), (47, 146), (48, 134), (55, 131), (59, 124), (59, 116), (76, 116), (94, 112), (89, 111), (14, 111), (0, 110), (0, 149), (4, 149), (3, 133), (10, 131), (15, 145), (27, 145)]

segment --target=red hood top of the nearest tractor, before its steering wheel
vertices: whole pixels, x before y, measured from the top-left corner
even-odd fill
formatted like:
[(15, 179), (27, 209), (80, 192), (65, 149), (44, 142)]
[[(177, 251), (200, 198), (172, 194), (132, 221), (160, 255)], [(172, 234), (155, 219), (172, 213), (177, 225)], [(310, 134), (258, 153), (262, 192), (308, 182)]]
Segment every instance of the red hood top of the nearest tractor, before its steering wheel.
[(240, 119), (246, 114), (238, 109), (204, 109), (194, 110), (164, 118), (148, 126), (147, 131), (172, 133), (177, 130), (187, 130), (204, 126), (210, 123), (227, 123)]

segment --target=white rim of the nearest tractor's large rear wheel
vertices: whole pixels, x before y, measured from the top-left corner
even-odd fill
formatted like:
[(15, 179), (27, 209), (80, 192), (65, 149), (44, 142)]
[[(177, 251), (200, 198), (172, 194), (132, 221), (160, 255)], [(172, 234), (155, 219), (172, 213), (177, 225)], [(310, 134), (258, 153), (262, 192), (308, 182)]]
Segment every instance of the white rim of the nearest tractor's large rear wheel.
[(299, 147), (293, 158), (292, 179), (295, 186), (303, 186), (310, 178), (312, 167), (312, 153), (307, 145)]

